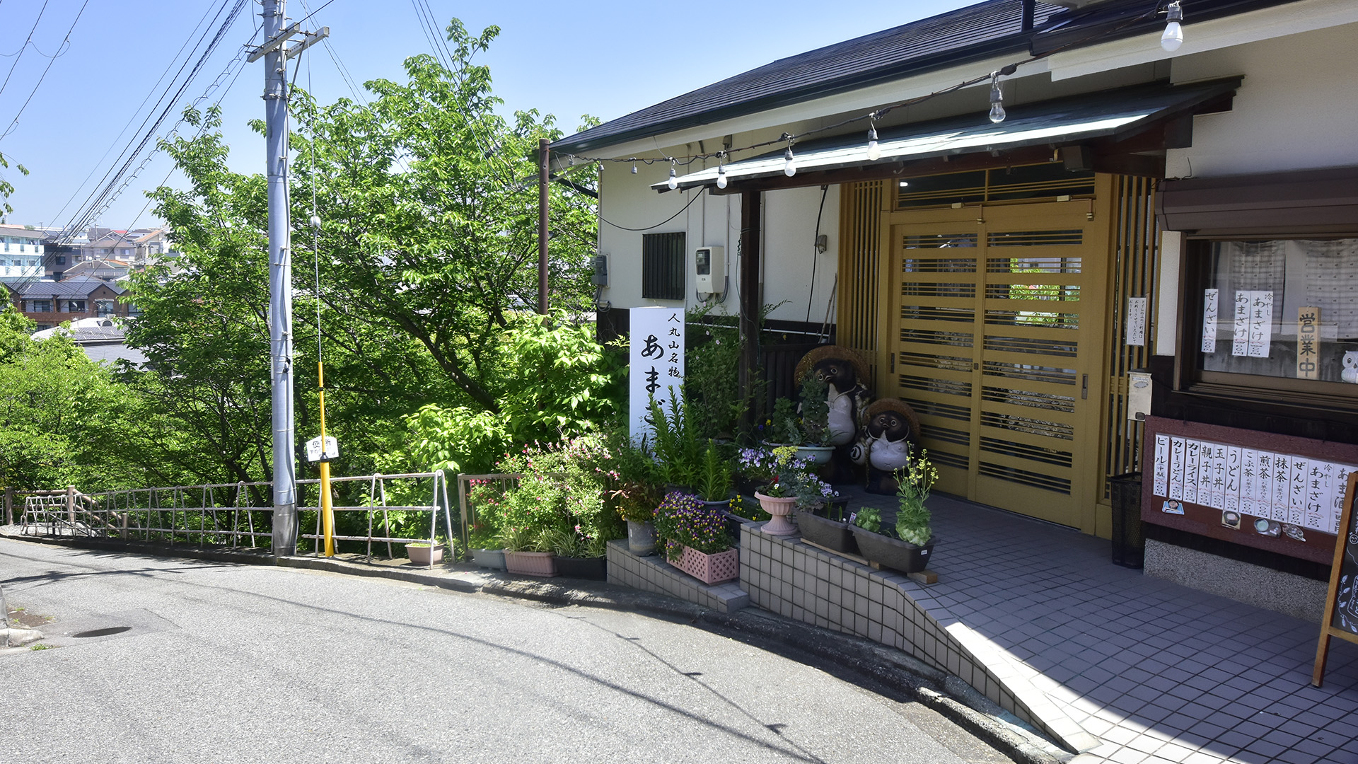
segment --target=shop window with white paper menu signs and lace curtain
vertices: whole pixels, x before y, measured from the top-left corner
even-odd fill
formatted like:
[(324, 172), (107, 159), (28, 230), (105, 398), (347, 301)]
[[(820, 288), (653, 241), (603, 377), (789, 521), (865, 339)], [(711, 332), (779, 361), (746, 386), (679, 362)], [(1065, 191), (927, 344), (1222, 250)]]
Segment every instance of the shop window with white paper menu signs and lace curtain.
[(1184, 341), (1196, 382), (1353, 405), (1358, 238), (1202, 241), (1191, 257)]

